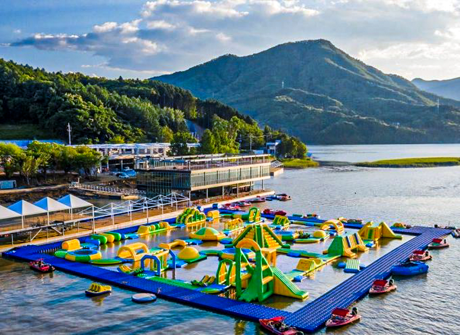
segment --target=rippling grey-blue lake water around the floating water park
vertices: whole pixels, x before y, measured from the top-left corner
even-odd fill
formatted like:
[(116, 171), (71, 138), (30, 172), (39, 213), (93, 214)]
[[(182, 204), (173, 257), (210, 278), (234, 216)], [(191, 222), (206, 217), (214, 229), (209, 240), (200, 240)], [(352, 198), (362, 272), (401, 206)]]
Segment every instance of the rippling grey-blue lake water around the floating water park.
[[(384, 158), (424, 156), (460, 156), (460, 145), (369, 145), (310, 146), (314, 157), (335, 161), (371, 161)], [(267, 202), (261, 208), (283, 208), (288, 213), (316, 212), (323, 218), (345, 216), (387, 222), (404, 221), (432, 226), (460, 226), (460, 167), (423, 169), (370, 169), (358, 167), (324, 167), (288, 170), (273, 178), (269, 187), (292, 195), (290, 202)], [(185, 235), (157, 235), (146, 242), (157, 244)], [(407, 236), (405, 237), (407, 240)], [(366, 297), (358, 302), (362, 320), (350, 327), (319, 333), (334, 334), (457, 334), (457, 311), (460, 302), (456, 292), (460, 280), (460, 247), (458, 240), (448, 238), (451, 247), (433, 251), (427, 275), (398, 280), (398, 290), (386, 296)], [(398, 241), (388, 242), (379, 251), (362, 254), (363, 263), (393, 249)], [(215, 244), (213, 249), (220, 249)], [(320, 251), (327, 245), (296, 248)], [(118, 247), (117, 247), (118, 248)], [(113, 254), (109, 247), (104, 254)], [(289, 271), (293, 259), (279, 256), (278, 265)], [(205, 267), (215, 271), (215, 259)], [(199, 264), (199, 263), (198, 263)], [(209, 266), (208, 266), (209, 265)], [(200, 265), (197, 265), (198, 268)], [(211, 270), (210, 270), (211, 272)], [(179, 272), (178, 272), (179, 273)], [(184, 272), (193, 279), (204, 274)], [(192, 276), (195, 276), (192, 278)], [(310, 292), (301, 303), (290, 299), (273, 299), (271, 305), (295, 310), (327, 291), (331, 285), (347, 278), (329, 265), (313, 279), (300, 286)], [(0, 260), (0, 323), (2, 334), (24, 331), (35, 334), (262, 334), (257, 324), (237, 320), (158, 300), (149, 305), (135, 305), (131, 292), (114, 288), (107, 298), (84, 297), (90, 280), (55, 272), (36, 274), (24, 263)]]

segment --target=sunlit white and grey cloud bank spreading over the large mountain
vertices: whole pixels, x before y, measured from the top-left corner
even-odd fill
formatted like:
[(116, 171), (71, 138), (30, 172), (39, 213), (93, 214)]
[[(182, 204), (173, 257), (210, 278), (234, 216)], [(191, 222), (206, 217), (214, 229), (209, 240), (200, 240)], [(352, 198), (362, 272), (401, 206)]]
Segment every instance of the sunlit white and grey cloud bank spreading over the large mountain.
[(125, 23), (10, 45), (91, 52), (107, 59), (104, 66), (141, 73), (316, 38), (387, 72), (460, 76), (452, 73), (460, 64), (460, 0), (153, 0)]

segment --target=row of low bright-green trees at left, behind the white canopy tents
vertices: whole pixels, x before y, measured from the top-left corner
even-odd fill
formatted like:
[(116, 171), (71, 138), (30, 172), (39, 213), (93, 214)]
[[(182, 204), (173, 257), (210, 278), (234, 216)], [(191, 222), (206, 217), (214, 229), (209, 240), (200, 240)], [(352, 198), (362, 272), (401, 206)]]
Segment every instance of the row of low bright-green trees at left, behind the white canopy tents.
[(102, 160), (99, 152), (87, 146), (71, 147), (33, 141), (27, 149), (21, 149), (15, 144), (0, 143), (0, 167), (6, 177), (11, 178), (19, 172), (28, 186), (38, 173), (47, 178), (48, 171), (55, 174), (56, 170), (65, 173), (83, 170), (86, 175), (90, 175)]

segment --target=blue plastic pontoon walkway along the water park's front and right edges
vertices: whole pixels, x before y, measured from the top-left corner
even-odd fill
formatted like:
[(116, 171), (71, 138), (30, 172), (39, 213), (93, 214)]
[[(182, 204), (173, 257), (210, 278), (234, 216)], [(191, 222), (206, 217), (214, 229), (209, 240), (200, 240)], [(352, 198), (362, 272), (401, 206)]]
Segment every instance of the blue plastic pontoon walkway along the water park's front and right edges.
[[(353, 226), (353, 228), (356, 227)], [(120, 232), (128, 233), (128, 230), (133, 229), (134, 227), (131, 227), (120, 230)], [(154, 293), (160, 298), (173, 302), (220, 312), (222, 314), (255, 322), (259, 319), (284, 316), (287, 318), (286, 322), (288, 324), (306, 332), (314, 332), (324, 326), (324, 323), (330, 318), (331, 311), (334, 308), (349, 306), (367, 294), (374, 279), (387, 278), (394, 264), (407, 259), (412, 251), (426, 248), (433, 238), (443, 237), (450, 233), (448, 229), (429, 227), (393, 230), (400, 234), (417, 236), (401, 244), (398, 248), (366, 266), (364, 270), (351, 276), (323, 296), (306, 304), (295, 312), (288, 312), (260, 304), (246, 303), (209, 295), (187, 288), (106, 270), (95, 265), (70, 262), (47, 254), (48, 252), (59, 249), (60, 242), (14, 248), (11, 251), (4, 252), (3, 257), (21, 261), (32, 261), (37, 258), (43, 258), (45, 262), (54, 265), (57, 270), (70, 274), (116, 285), (132, 291)]]

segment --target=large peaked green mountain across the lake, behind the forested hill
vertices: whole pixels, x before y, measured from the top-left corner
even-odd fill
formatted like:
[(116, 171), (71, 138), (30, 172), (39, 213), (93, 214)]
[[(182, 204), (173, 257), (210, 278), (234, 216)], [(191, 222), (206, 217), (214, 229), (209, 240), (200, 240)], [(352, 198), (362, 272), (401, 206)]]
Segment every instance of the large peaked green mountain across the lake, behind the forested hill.
[(460, 141), (460, 102), (421, 91), (323, 39), (224, 55), (151, 79), (222, 101), (308, 143)]

